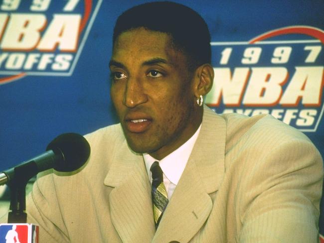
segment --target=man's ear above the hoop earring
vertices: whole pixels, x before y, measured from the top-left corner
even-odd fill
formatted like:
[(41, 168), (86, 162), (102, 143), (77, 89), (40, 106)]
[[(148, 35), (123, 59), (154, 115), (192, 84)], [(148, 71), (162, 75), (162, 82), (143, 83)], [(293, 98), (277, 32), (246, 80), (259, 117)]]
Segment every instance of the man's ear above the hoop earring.
[(213, 86), (214, 70), (210, 64), (203, 64), (196, 69), (195, 97), (205, 96)]

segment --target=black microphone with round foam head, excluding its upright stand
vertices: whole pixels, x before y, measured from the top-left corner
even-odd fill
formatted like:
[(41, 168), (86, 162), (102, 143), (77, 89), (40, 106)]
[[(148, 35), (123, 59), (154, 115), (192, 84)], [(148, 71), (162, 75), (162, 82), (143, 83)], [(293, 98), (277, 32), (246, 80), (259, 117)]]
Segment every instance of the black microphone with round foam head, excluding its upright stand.
[(14, 180), (18, 169), (23, 169), (29, 178), (51, 168), (59, 172), (72, 172), (84, 165), (89, 155), (90, 145), (83, 136), (77, 133), (61, 134), (48, 144), (46, 152), (2, 171), (0, 186)]

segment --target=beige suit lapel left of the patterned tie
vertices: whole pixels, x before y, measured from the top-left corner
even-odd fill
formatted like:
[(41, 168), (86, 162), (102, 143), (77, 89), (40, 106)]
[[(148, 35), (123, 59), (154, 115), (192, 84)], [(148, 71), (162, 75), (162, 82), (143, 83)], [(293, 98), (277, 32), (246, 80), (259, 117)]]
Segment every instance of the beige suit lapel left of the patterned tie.
[(151, 201), (151, 185), (142, 155), (127, 148), (116, 154), (105, 185), (110, 193), (111, 219), (123, 242), (151, 242), (155, 225)]

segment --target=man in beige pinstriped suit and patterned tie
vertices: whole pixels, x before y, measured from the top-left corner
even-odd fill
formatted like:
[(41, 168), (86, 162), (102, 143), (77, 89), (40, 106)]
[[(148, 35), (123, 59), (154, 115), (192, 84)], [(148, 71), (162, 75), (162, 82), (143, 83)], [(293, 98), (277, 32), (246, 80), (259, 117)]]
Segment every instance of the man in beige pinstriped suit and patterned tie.
[(318, 241), (321, 155), (270, 116), (204, 107), (209, 43), (204, 20), (177, 3), (118, 18), (110, 69), (120, 124), (86, 136), (79, 173), (38, 178), (27, 209), (40, 242)]

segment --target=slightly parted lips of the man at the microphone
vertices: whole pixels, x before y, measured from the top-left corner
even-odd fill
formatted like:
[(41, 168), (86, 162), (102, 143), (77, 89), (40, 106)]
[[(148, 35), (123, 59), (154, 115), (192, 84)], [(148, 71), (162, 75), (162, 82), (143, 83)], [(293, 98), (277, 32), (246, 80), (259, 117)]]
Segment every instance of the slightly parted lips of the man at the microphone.
[(146, 131), (151, 123), (152, 118), (145, 114), (131, 114), (126, 116), (125, 119), (127, 130), (135, 133)]

